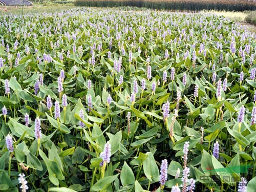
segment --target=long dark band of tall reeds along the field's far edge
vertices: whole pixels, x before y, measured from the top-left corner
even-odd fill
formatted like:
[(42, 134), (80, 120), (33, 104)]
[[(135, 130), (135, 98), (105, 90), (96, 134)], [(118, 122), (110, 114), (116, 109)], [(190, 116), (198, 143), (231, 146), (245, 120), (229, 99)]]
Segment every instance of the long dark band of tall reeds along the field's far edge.
[(255, 2), (242, 1), (208, 1), (208, 0), (151, 0), (151, 1), (131, 1), (131, 0), (75, 0), (75, 6), (86, 7), (144, 7), (158, 10), (183, 10), (183, 11), (200, 11), (200, 10), (226, 10), (226, 11), (245, 11), (256, 10)]

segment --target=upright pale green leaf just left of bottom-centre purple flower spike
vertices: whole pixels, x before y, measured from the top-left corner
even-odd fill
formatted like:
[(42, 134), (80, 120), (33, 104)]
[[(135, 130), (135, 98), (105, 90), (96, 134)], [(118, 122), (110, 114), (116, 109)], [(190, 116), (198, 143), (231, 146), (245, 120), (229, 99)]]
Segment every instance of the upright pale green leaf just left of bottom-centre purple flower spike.
[(155, 158), (151, 152), (147, 152), (148, 158), (143, 162), (144, 174), (151, 182), (159, 181), (159, 170)]

